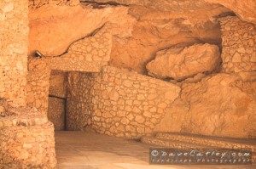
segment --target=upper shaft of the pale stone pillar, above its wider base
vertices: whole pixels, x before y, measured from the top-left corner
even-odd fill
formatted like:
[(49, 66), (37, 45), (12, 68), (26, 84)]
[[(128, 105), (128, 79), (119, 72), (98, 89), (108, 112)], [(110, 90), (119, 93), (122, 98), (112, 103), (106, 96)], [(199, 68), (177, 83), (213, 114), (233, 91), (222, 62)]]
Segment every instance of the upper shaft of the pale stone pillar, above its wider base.
[(0, 3), (0, 98), (12, 106), (26, 105), (28, 2)]

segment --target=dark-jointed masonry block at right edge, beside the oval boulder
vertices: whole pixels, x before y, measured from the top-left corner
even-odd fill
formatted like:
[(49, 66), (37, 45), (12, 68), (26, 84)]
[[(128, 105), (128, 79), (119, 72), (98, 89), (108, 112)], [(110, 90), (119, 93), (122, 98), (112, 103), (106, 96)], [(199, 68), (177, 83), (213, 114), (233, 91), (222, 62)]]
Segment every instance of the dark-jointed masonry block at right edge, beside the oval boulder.
[(237, 17), (220, 20), (224, 72), (256, 70), (256, 25)]

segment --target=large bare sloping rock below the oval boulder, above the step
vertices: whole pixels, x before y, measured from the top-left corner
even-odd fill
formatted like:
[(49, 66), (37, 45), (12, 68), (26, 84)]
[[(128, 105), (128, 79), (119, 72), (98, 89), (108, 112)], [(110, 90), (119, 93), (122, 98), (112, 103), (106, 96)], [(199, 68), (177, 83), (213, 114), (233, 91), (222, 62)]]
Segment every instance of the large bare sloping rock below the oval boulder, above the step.
[(251, 78), (255, 73), (239, 75), (221, 73), (183, 83), (180, 99), (156, 131), (256, 138), (256, 81)]

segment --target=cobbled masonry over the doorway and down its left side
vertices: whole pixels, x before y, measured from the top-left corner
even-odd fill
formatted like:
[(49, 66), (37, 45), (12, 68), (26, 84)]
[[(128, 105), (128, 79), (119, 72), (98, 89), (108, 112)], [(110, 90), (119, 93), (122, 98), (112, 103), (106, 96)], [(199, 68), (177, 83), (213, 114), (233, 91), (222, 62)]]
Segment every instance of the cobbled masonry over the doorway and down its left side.
[(26, 87), (28, 106), (36, 107), (41, 113), (47, 115), (50, 71), (99, 72), (102, 65), (108, 64), (111, 44), (108, 25), (104, 25), (91, 37), (73, 42), (67, 54), (59, 57), (30, 59)]

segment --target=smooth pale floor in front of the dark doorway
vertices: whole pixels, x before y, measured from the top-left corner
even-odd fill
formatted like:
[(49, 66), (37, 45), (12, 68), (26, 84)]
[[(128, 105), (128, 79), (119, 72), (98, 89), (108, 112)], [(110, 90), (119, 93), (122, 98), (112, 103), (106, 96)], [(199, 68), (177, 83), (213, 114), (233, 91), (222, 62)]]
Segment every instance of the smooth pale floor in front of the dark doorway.
[(148, 144), (87, 132), (55, 132), (57, 168), (60, 169), (253, 169), (247, 166), (153, 166)]

